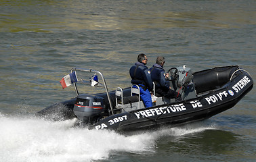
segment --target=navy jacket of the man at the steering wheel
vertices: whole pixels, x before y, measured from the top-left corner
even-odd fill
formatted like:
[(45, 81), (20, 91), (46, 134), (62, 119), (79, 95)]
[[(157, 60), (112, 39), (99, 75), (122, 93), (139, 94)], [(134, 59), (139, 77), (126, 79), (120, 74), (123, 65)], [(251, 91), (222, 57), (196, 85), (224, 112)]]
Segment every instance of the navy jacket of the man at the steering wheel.
[(150, 68), (152, 82), (156, 84), (156, 88), (163, 88), (165, 90), (169, 90), (169, 84), (165, 79), (165, 70), (161, 65), (154, 64), (152, 68)]

